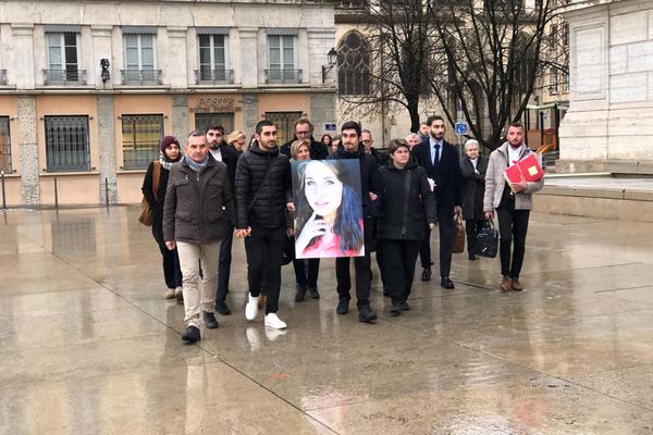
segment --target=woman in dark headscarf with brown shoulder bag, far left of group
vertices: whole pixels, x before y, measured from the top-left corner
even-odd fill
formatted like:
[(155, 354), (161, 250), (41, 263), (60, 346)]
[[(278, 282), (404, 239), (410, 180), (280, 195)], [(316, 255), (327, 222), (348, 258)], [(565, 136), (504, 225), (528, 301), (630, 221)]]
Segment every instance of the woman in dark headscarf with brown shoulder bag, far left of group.
[[(174, 162), (182, 159), (180, 142), (173, 136), (165, 136), (161, 140), (161, 152), (159, 160), (149, 164), (143, 181), (143, 196), (152, 211), (152, 236), (159, 245), (161, 257), (163, 257), (163, 277), (165, 278), (165, 299), (184, 300), (182, 291), (182, 269), (180, 268), (180, 258), (176, 248), (169, 250), (163, 239), (163, 202), (165, 202), (165, 190), (168, 188), (168, 176), (170, 167)], [(153, 191), (155, 172), (159, 173), (159, 185), (157, 191)]]

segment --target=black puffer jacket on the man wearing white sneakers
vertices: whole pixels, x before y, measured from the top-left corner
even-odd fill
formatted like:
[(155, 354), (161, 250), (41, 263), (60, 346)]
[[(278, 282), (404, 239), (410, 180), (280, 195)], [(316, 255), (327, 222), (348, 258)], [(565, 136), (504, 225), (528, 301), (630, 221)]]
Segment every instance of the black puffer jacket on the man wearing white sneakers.
[[(268, 169), (270, 174), (266, 178)], [(258, 144), (252, 146), (238, 159), (235, 194), (237, 229), (247, 229), (251, 225), (263, 228), (286, 226), (286, 203), (293, 201), (288, 158), (278, 148), (266, 152)]]

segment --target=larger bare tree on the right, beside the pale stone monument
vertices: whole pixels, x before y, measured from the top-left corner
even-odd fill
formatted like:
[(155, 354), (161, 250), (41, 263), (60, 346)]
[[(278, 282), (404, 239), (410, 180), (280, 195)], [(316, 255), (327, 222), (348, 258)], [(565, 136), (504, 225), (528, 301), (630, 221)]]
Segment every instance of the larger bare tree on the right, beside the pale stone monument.
[(555, 0), (434, 0), (430, 22), (442, 44), (435, 62), (446, 75), (431, 75), (431, 89), (453, 124), (463, 117), (471, 136), (490, 149), (504, 127), (518, 121), (535, 80), (552, 61), (545, 29)]

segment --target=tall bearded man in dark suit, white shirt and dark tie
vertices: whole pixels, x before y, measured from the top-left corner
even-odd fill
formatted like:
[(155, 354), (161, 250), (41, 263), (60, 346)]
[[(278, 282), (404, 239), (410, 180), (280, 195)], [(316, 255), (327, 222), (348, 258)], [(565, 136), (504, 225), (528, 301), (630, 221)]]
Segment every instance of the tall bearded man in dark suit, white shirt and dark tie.
[[(427, 124), (431, 136), (415, 146), (412, 156), (420, 166), (427, 170), (429, 181), (435, 192), (438, 202), (438, 225), (440, 228), (440, 285), (454, 288), (449, 278), (452, 268), (452, 245), (454, 243), (454, 213), (463, 212), (460, 198), (460, 159), (458, 150), (444, 140), (444, 119), (439, 115), (429, 116)], [(422, 281), (431, 279), (430, 229), (427, 228), (420, 252), (422, 262)]]

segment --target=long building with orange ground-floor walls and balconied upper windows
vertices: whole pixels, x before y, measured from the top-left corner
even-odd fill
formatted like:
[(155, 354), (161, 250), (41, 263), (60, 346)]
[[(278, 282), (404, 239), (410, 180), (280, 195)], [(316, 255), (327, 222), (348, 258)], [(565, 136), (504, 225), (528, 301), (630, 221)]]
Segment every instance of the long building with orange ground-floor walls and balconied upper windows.
[(308, 116), (319, 135), (334, 37), (330, 1), (3, 1), (8, 204), (138, 202), (161, 137), (209, 124), (251, 135), (269, 119), (281, 141)]

